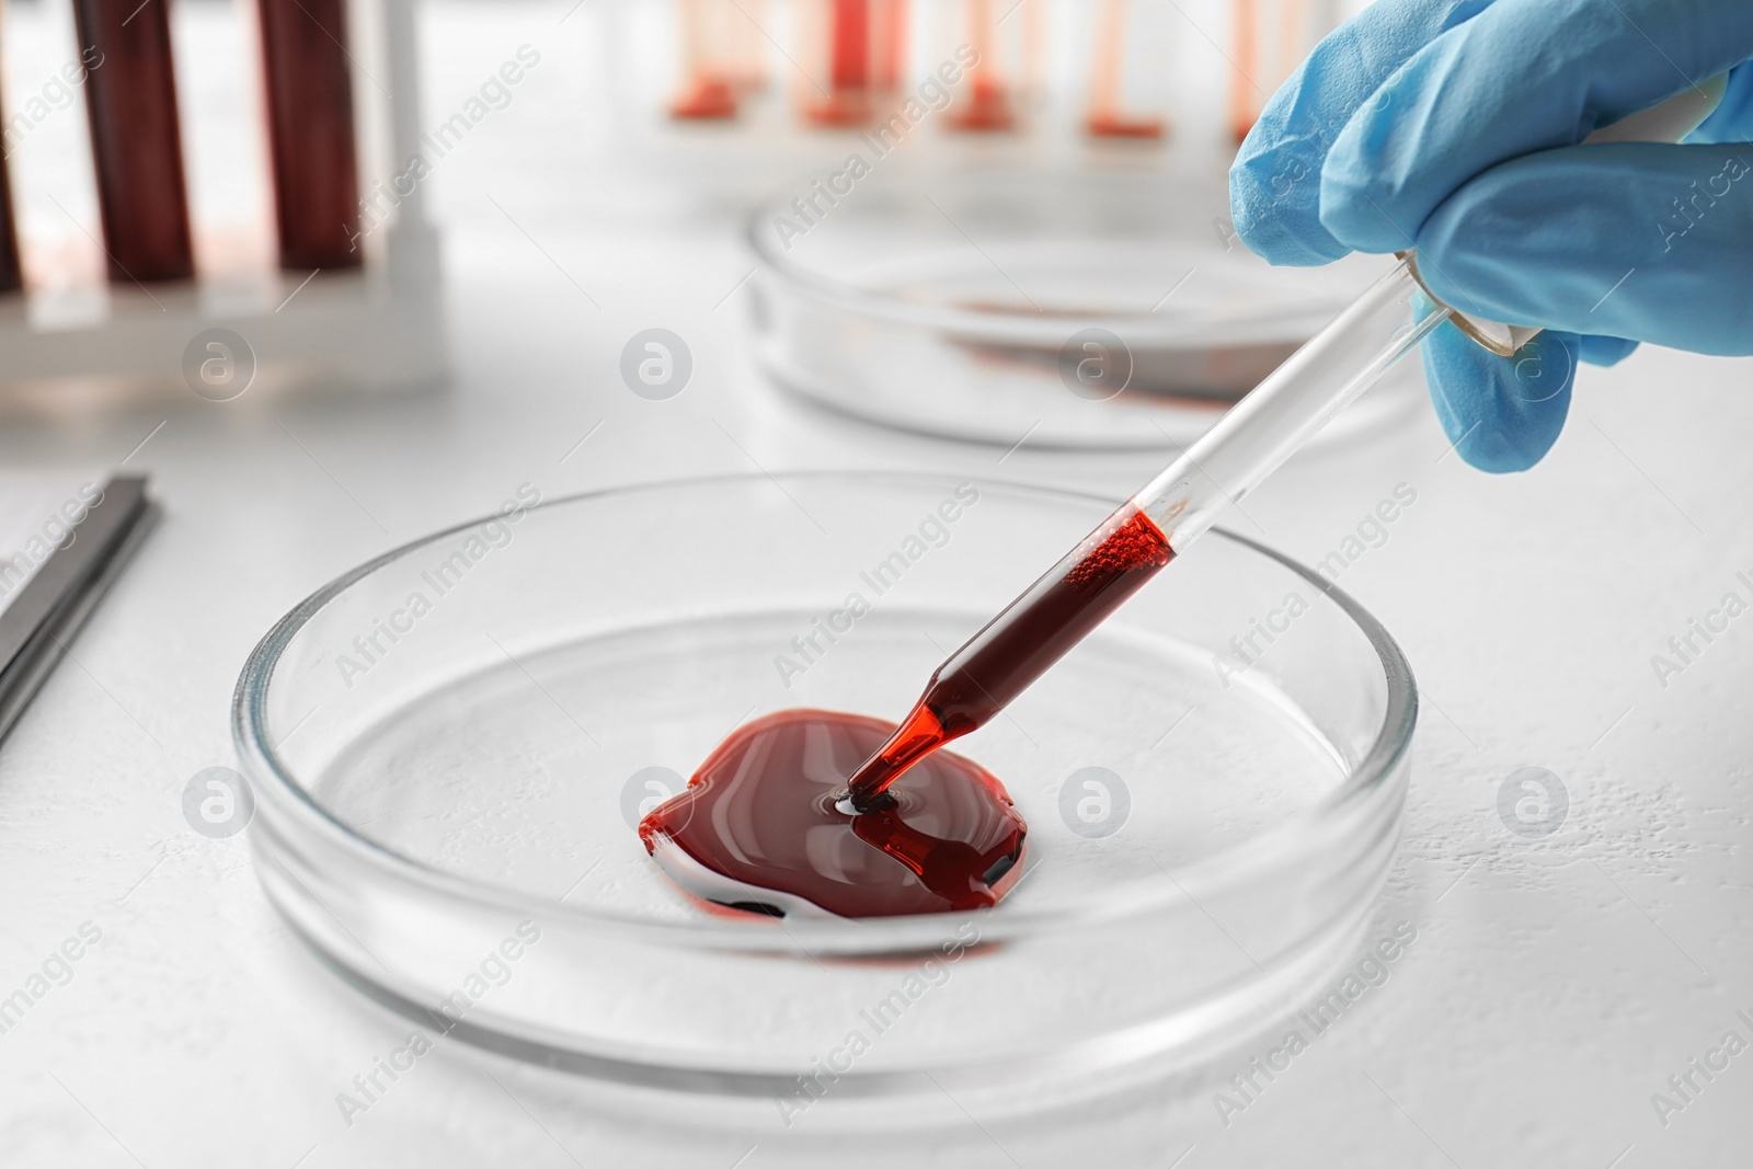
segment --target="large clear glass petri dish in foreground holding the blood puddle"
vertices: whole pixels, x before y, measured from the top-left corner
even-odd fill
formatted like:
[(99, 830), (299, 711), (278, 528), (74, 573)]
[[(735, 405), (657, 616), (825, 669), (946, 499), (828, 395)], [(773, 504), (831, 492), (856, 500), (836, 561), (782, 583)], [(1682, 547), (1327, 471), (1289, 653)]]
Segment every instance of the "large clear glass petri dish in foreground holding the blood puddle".
[(621, 1083), (782, 1097), (829, 1067), (845, 1099), (985, 1092), (1227, 1050), (1352, 957), (1416, 706), (1374, 619), (1241, 536), (1213, 531), (955, 747), (1031, 824), (994, 910), (715, 910), (633, 831), (750, 717), (903, 713), (1110, 507), (712, 478), (389, 552), (287, 613), (238, 680), (261, 882), (380, 1003)]

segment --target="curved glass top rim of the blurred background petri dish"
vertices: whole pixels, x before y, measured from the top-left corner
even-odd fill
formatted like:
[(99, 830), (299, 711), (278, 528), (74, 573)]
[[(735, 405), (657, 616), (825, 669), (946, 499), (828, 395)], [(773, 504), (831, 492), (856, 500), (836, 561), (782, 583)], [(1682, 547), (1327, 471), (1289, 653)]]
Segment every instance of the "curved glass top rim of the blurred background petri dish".
[[(833, 172), (829, 168), (810, 172), (810, 175), (827, 174)], [(980, 172), (978, 175), (959, 175), (959, 179), (966, 181), (969, 177), (980, 177), (990, 181), (1004, 174), (1013, 172)], [(1145, 181), (1157, 175), (1117, 174), (1101, 177), (1110, 181)], [(891, 182), (898, 186), (919, 186), (917, 179), (910, 177), (898, 177)], [(850, 308), (854, 312), (899, 324), (1010, 342), (1047, 340), (1059, 344), (1064, 340), (1066, 329), (1076, 331), (1087, 328), (1120, 326), (1134, 335), (1143, 333), (1157, 340), (1178, 342), (1189, 347), (1264, 344), (1274, 340), (1295, 340), (1301, 344), (1313, 329), (1331, 321), (1332, 315), (1338, 314), (1346, 303), (1343, 296), (1334, 296), (1332, 303), (1324, 301), (1315, 307), (1302, 307), (1301, 310), (1276, 308), (1273, 312), (1266, 312), (1264, 315), (1218, 314), (1211, 317), (1187, 317), (1173, 314), (1162, 315), (1155, 310), (1024, 314), (1020, 308), (983, 310), (924, 300), (905, 300), (892, 293), (836, 280), (789, 259), (789, 249), (780, 249), (771, 238), (768, 238), (770, 231), (764, 230), (770, 226), (775, 209), (789, 210), (789, 203), (785, 202), (787, 193), (787, 189), (775, 189), (771, 195), (759, 200), (743, 217), (743, 240), (761, 266), (764, 266), (770, 273), (792, 282), (803, 293), (819, 296), (841, 308)], [(820, 223), (826, 223), (826, 219)], [(1285, 312), (1301, 312), (1302, 315), (1287, 317), (1283, 315)]]

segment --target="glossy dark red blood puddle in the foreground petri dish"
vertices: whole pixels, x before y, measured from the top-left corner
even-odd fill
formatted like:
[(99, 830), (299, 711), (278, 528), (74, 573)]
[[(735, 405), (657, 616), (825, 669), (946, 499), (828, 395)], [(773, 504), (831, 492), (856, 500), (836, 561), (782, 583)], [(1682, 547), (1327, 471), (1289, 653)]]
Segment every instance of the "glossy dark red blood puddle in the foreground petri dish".
[(735, 910), (784, 915), (803, 899), (840, 917), (898, 917), (996, 904), (1022, 876), (1027, 825), (978, 764), (938, 752), (868, 811), (836, 806), (892, 731), (831, 710), (756, 719), (640, 822), (640, 840), (678, 885)]

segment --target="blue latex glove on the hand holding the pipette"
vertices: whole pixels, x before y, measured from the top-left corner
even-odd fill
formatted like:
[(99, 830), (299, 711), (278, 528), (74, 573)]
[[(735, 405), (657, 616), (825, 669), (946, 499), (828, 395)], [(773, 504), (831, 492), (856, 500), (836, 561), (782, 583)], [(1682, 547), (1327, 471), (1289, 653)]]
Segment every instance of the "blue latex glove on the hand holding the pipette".
[(1578, 145), (1749, 56), (1749, 0), (1378, 0), (1267, 102), (1236, 231), (1280, 265), (1416, 247), (1453, 307), (1546, 326), (1515, 358), (1423, 344), (1460, 456), (1527, 470), (1578, 361), (1753, 352), (1753, 63), (1686, 145)]

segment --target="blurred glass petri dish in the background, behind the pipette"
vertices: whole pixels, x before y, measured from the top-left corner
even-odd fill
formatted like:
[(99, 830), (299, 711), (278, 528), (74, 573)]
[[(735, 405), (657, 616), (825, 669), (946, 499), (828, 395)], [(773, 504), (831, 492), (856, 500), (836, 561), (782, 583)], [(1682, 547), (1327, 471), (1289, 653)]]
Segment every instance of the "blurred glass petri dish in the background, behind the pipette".
[[(1004, 447), (1183, 445), (1381, 275), (1371, 256), (1273, 268), (1236, 240), (1222, 181), (876, 170), (794, 186), (745, 224), (759, 366), (840, 414)], [(1411, 366), (1325, 440), (1406, 417)]]

